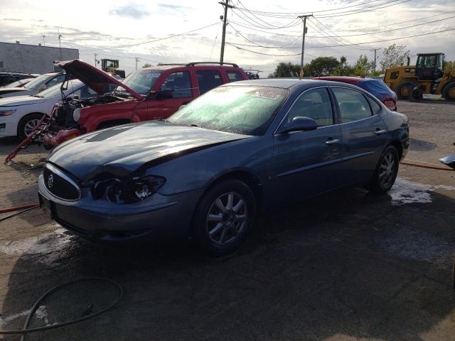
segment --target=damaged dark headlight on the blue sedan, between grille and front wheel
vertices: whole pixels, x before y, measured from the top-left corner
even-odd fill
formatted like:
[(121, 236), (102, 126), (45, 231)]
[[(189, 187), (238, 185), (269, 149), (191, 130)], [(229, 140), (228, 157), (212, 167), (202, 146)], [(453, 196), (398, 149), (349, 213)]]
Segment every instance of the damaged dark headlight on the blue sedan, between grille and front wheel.
[(92, 197), (95, 200), (106, 197), (116, 204), (132, 204), (151, 197), (165, 182), (165, 178), (156, 175), (98, 181), (92, 187)]

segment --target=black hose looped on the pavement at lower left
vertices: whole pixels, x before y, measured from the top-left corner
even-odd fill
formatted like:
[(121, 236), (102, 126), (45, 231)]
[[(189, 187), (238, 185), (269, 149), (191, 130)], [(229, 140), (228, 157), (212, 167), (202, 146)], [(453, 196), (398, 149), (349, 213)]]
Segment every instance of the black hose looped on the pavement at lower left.
[[(33, 314), (36, 312), (38, 307), (40, 306), (41, 302), (50, 295), (50, 293), (53, 293), (54, 291), (57, 291), (60, 288), (63, 288), (64, 286), (68, 286), (69, 284), (73, 283), (78, 283), (81, 281), (105, 281), (113, 284), (114, 286), (117, 287), (119, 291), (119, 296), (116, 298), (114, 302), (111, 304), (107, 305), (106, 308), (103, 308), (96, 313), (91, 313), (90, 315), (85, 315), (80, 318), (75, 318), (74, 320), (68, 320), (60, 323), (55, 323), (53, 325), (46, 325), (44, 327), (38, 327), (38, 328), (28, 328), (28, 325), (30, 324), (31, 319), (33, 318)], [(38, 298), (38, 301), (33, 305), (33, 307), (30, 310), (30, 313), (28, 313), (26, 322), (23, 324), (23, 329), (18, 329), (18, 330), (0, 330), (0, 334), (4, 335), (13, 335), (13, 334), (22, 334), (21, 336), (21, 341), (25, 340), (26, 335), (30, 332), (42, 332), (43, 330), (50, 330), (50, 329), (55, 329), (55, 328), (62, 328), (65, 327), (66, 325), (73, 325), (74, 323), (82, 322), (84, 320), (89, 320), (90, 318), (95, 318), (95, 316), (100, 315), (102, 313), (105, 313), (105, 311), (109, 310), (112, 308), (114, 305), (119, 303), (119, 301), (123, 297), (123, 288), (122, 286), (119, 285), (116, 281), (112, 281), (112, 279), (109, 278), (103, 278), (103, 277), (86, 277), (86, 278), (79, 278), (75, 279), (74, 281), (69, 281), (65, 283), (61, 283), (58, 286), (54, 286), (53, 288), (50, 288), (50, 290), (46, 291), (40, 298)]]

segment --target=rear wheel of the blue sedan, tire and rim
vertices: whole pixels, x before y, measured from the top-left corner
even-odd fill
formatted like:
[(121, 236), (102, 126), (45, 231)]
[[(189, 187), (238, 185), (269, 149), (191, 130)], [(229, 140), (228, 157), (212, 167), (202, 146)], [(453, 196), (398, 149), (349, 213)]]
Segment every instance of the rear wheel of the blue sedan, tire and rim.
[(368, 190), (373, 193), (387, 193), (392, 188), (397, 178), (400, 158), (397, 148), (387, 146), (379, 159), (373, 178), (368, 185)]

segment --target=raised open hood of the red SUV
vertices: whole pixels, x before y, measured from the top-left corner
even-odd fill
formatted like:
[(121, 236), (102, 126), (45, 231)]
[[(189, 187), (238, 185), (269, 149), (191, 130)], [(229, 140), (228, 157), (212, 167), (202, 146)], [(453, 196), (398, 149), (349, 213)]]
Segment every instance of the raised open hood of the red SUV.
[(82, 60), (75, 59), (66, 60), (64, 62), (56, 61), (54, 64), (55, 66), (61, 67), (74, 78), (81, 80), (85, 85), (90, 87), (92, 90), (95, 90), (97, 94), (105, 94), (109, 84), (115, 84), (123, 87), (124, 90), (132, 94), (132, 96), (136, 99), (144, 98), (141, 94), (138, 94), (131, 88), (127, 87), (127, 85), (124, 85), (119, 80), (116, 80), (114, 77), (108, 75), (107, 72), (82, 62)]

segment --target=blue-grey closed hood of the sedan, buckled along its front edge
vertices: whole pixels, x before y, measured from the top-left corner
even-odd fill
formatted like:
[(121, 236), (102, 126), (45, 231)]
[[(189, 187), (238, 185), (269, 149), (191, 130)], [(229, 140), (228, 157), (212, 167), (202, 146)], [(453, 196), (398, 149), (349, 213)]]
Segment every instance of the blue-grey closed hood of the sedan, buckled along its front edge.
[(48, 162), (82, 181), (109, 173), (122, 178), (144, 163), (182, 155), (248, 136), (224, 133), (164, 121), (127, 124), (80, 136), (54, 149)]

